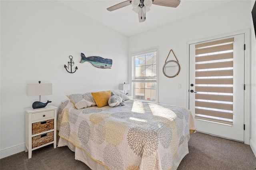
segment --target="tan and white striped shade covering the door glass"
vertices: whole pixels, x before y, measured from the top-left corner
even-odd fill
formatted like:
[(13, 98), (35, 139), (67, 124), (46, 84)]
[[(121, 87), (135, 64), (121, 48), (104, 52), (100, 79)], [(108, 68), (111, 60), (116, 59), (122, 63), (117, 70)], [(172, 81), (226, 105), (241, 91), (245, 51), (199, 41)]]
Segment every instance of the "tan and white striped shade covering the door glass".
[(233, 124), (234, 38), (196, 44), (195, 117)]

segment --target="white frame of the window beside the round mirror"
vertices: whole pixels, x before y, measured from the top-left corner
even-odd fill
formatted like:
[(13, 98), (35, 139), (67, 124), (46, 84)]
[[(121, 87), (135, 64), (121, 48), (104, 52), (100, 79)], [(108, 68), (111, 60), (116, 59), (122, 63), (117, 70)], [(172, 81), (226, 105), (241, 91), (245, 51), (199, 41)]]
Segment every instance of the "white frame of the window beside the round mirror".
[[(135, 52), (132, 52), (132, 53), (130, 53), (130, 82), (131, 82), (131, 84), (132, 84), (132, 96), (133, 97), (135, 97), (135, 90), (134, 90), (134, 88), (135, 88), (135, 81), (133, 81), (132, 80), (132, 77), (133, 77), (133, 75), (132, 75), (132, 73), (134, 72), (134, 69), (135, 68), (132, 68), (132, 57), (134, 56), (134, 55), (142, 55), (142, 54), (146, 54), (146, 53), (151, 53), (151, 52), (156, 52), (156, 101), (150, 101), (150, 102), (158, 102), (158, 53), (159, 53), (159, 50), (158, 50), (158, 47), (152, 47), (152, 48), (149, 48), (149, 49), (144, 49), (144, 50), (140, 50), (140, 51), (135, 51)], [(136, 81), (136, 82), (138, 82), (138, 81)], [(140, 82), (148, 82), (148, 81), (140, 81)], [(140, 100), (140, 99), (136, 99), (136, 100)], [(149, 101), (149, 100), (146, 100), (146, 99), (143, 99), (143, 101)]]

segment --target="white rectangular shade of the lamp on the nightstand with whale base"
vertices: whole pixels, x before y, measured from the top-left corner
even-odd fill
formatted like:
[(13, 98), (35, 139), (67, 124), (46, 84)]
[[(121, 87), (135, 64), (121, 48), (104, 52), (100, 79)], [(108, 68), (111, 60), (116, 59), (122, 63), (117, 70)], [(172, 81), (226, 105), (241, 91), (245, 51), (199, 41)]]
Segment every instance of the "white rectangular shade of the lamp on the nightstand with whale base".
[(40, 96), (40, 95), (52, 95), (52, 84), (28, 84), (27, 86), (28, 96)]

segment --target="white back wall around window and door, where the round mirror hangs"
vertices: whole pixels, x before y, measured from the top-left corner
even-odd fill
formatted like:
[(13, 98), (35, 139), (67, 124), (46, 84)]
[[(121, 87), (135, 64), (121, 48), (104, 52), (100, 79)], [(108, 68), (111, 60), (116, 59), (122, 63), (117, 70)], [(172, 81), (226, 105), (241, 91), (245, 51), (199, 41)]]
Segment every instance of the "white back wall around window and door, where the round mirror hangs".
[[(189, 86), (188, 75), (186, 74), (188, 73), (188, 49), (186, 48), (186, 43), (251, 28), (251, 9), (253, 3), (254, 2), (244, 0), (228, 2), (212, 10), (183, 18), (145, 32), (144, 34), (129, 38), (130, 53), (154, 46), (159, 47), (158, 101), (160, 103), (184, 107), (188, 103), (186, 100)], [(252, 113), (250, 145), (254, 144), (254, 148), (256, 148), (256, 42), (254, 35), (252, 35), (252, 39), (251, 83), (253, 86), (251, 87)], [(181, 67), (179, 75), (174, 78), (167, 78), (162, 73), (164, 61), (170, 49), (173, 49)], [(172, 56), (171, 59), (175, 59), (174, 56)], [(178, 89), (178, 83), (182, 84), (182, 89)]]

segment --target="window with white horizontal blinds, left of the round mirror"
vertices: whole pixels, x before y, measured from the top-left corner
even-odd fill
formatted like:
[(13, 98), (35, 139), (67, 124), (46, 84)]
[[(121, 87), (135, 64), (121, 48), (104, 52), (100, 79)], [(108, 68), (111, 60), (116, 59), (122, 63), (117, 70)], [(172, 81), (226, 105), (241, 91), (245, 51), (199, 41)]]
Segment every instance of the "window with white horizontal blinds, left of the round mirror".
[(157, 49), (132, 54), (134, 99), (157, 101)]

